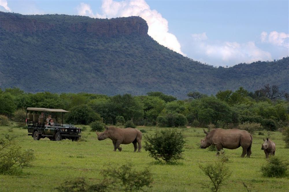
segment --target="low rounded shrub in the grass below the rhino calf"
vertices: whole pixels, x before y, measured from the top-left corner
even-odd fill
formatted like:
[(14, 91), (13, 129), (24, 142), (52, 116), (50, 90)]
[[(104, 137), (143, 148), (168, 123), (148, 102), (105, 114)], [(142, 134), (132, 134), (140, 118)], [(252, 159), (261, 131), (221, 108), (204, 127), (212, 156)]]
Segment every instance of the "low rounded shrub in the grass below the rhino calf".
[(261, 167), (264, 177), (285, 177), (287, 175), (287, 166), (276, 156), (269, 156), (268, 163)]

